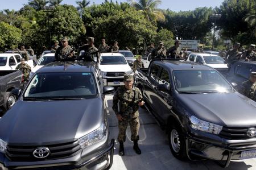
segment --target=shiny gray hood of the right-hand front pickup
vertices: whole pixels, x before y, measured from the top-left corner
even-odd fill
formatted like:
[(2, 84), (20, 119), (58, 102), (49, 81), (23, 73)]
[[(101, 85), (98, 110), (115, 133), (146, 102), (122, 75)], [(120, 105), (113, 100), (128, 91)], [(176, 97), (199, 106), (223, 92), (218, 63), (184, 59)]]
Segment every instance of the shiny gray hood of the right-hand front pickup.
[(256, 102), (240, 93), (179, 94), (187, 111), (221, 126), (256, 126)]

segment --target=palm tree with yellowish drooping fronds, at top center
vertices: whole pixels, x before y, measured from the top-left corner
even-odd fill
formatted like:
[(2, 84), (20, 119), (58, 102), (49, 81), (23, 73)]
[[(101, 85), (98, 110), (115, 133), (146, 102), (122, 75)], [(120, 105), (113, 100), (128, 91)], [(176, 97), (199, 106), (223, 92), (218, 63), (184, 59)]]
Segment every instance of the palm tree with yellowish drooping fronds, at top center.
[(160, 20), (164, 21), (165, 17), (162, 10), (157, 9), (157, 6), (162, 3), (161, 0), (134, 0), (131, 1), (131, 6), (139, 11), (143, 11), (147, 20)]

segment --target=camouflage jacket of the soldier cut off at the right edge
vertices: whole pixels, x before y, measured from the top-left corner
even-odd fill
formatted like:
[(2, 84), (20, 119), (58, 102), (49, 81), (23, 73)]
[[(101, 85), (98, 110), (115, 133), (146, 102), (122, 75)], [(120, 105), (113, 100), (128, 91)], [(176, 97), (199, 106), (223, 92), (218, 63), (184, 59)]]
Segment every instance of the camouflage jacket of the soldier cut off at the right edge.
[(243, 82), (240, 92), (244, 96), (256, 101), (256, 82), (253, 83), (250, 80)]

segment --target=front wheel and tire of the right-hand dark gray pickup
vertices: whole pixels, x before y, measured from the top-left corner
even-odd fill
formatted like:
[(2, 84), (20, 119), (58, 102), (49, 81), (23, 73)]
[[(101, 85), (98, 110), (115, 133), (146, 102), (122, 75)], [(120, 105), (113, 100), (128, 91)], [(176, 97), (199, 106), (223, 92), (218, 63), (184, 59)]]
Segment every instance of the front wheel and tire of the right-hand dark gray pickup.
[(187, 159), (185, 137), (180, 127), (170, 128), (168, 140), (172, 155), (179, 160)]

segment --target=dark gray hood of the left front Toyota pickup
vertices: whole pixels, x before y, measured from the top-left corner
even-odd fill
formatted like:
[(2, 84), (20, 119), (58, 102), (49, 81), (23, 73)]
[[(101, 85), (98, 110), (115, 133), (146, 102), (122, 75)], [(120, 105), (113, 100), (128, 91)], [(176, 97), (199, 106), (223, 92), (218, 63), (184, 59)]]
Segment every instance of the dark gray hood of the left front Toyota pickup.
[(104, 120), (100, 98), (18, 101), (0, 119), (0, 139), (9, 144), (71, 142), (96, 130)]

